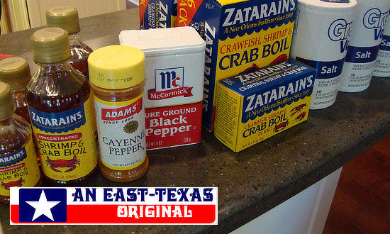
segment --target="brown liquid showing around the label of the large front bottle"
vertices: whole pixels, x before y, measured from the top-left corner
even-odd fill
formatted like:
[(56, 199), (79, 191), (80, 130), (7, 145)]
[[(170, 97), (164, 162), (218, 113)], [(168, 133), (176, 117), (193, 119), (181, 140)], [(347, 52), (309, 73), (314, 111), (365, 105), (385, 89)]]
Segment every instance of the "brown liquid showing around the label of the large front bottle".
[[(30, 82), (28, 87), (45, 87), (50, 90), (50, 94), (41, 94), (40, 89), (27, 90), (28, 106), (35, 110), (43, 112), (58, 113), (68, 111), (72, 108), (83, 104), (91, 95), (91, 90), (87, 80), (80, 78), (77, 71), (69, 64), (69, 62), (61, 62), (58, 64), (40, 64), (38, 67), (39, 78), (33, 83)], [(34, 74), (34, 77), (37, 73)], [(50, 83), (50, 81), (52, 83)], [(34, 84), (35, 82), (35, 84)], [(41, 155), (43, 157), (43, 155)], [(45, 161), (43, 159), (43, 161)], [(45, 163), (45, 162), (42, 162)], [(89, 179), (97, 170), (95, 167), (87, 176), (69, 181), (57, 181), (45, 177), (52, 184), (67, 184), (72, 185)]]

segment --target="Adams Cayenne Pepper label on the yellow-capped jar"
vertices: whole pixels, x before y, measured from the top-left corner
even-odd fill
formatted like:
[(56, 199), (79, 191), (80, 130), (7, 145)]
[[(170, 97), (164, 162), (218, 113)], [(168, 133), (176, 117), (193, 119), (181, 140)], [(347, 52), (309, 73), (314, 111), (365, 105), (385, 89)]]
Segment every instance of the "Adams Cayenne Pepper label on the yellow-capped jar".
[(110, 169), (127, 170), (146, 159), (143, 94), (128, 101), (104, 101), (95, 96), (101, 162)]

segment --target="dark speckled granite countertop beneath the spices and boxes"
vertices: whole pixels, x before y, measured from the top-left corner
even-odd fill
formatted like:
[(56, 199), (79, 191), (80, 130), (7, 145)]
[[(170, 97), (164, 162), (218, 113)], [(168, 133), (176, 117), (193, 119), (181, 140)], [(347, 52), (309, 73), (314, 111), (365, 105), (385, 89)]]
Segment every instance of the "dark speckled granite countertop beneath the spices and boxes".
[[(121, 30), (138, 28), (138, 9), (80, 20), (81, 38), (96, 49), (118, 44)], [(0, 36), (0, 53), (30, 50), (23, 30)], [(87, 186), (217, 186), (218, 225), (9, 225), (9, 206), (0, 204), (5, 233), (181, 232), (225, 233), (260, 216), (360, 155), (390, 133), (390, 79), (372, 79), (360, 93), (338, 94), (329, 108), (310, 111), (308, 121), (235, 153), (213, 133), (201, 143), (147, 152), (150, 169), (135, 182), (110, 182), (101, 174)]]

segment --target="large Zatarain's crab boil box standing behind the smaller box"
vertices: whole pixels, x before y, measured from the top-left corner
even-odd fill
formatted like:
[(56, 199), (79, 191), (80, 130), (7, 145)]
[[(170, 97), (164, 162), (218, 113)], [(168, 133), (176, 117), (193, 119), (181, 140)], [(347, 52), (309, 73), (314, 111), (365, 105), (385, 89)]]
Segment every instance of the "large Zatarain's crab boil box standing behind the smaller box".
[(216, 82), (289, 57), (297, 0), (179, 0), (177, 26), (206, 41), (203, 125), (213, 130)]

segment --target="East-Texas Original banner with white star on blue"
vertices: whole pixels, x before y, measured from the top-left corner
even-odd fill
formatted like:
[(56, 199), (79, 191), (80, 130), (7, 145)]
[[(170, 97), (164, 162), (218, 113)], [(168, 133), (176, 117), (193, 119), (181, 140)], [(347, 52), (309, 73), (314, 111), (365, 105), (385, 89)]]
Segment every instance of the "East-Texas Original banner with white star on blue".
[(218, 224), (218, 188), (11, 187), (11, 224)]

